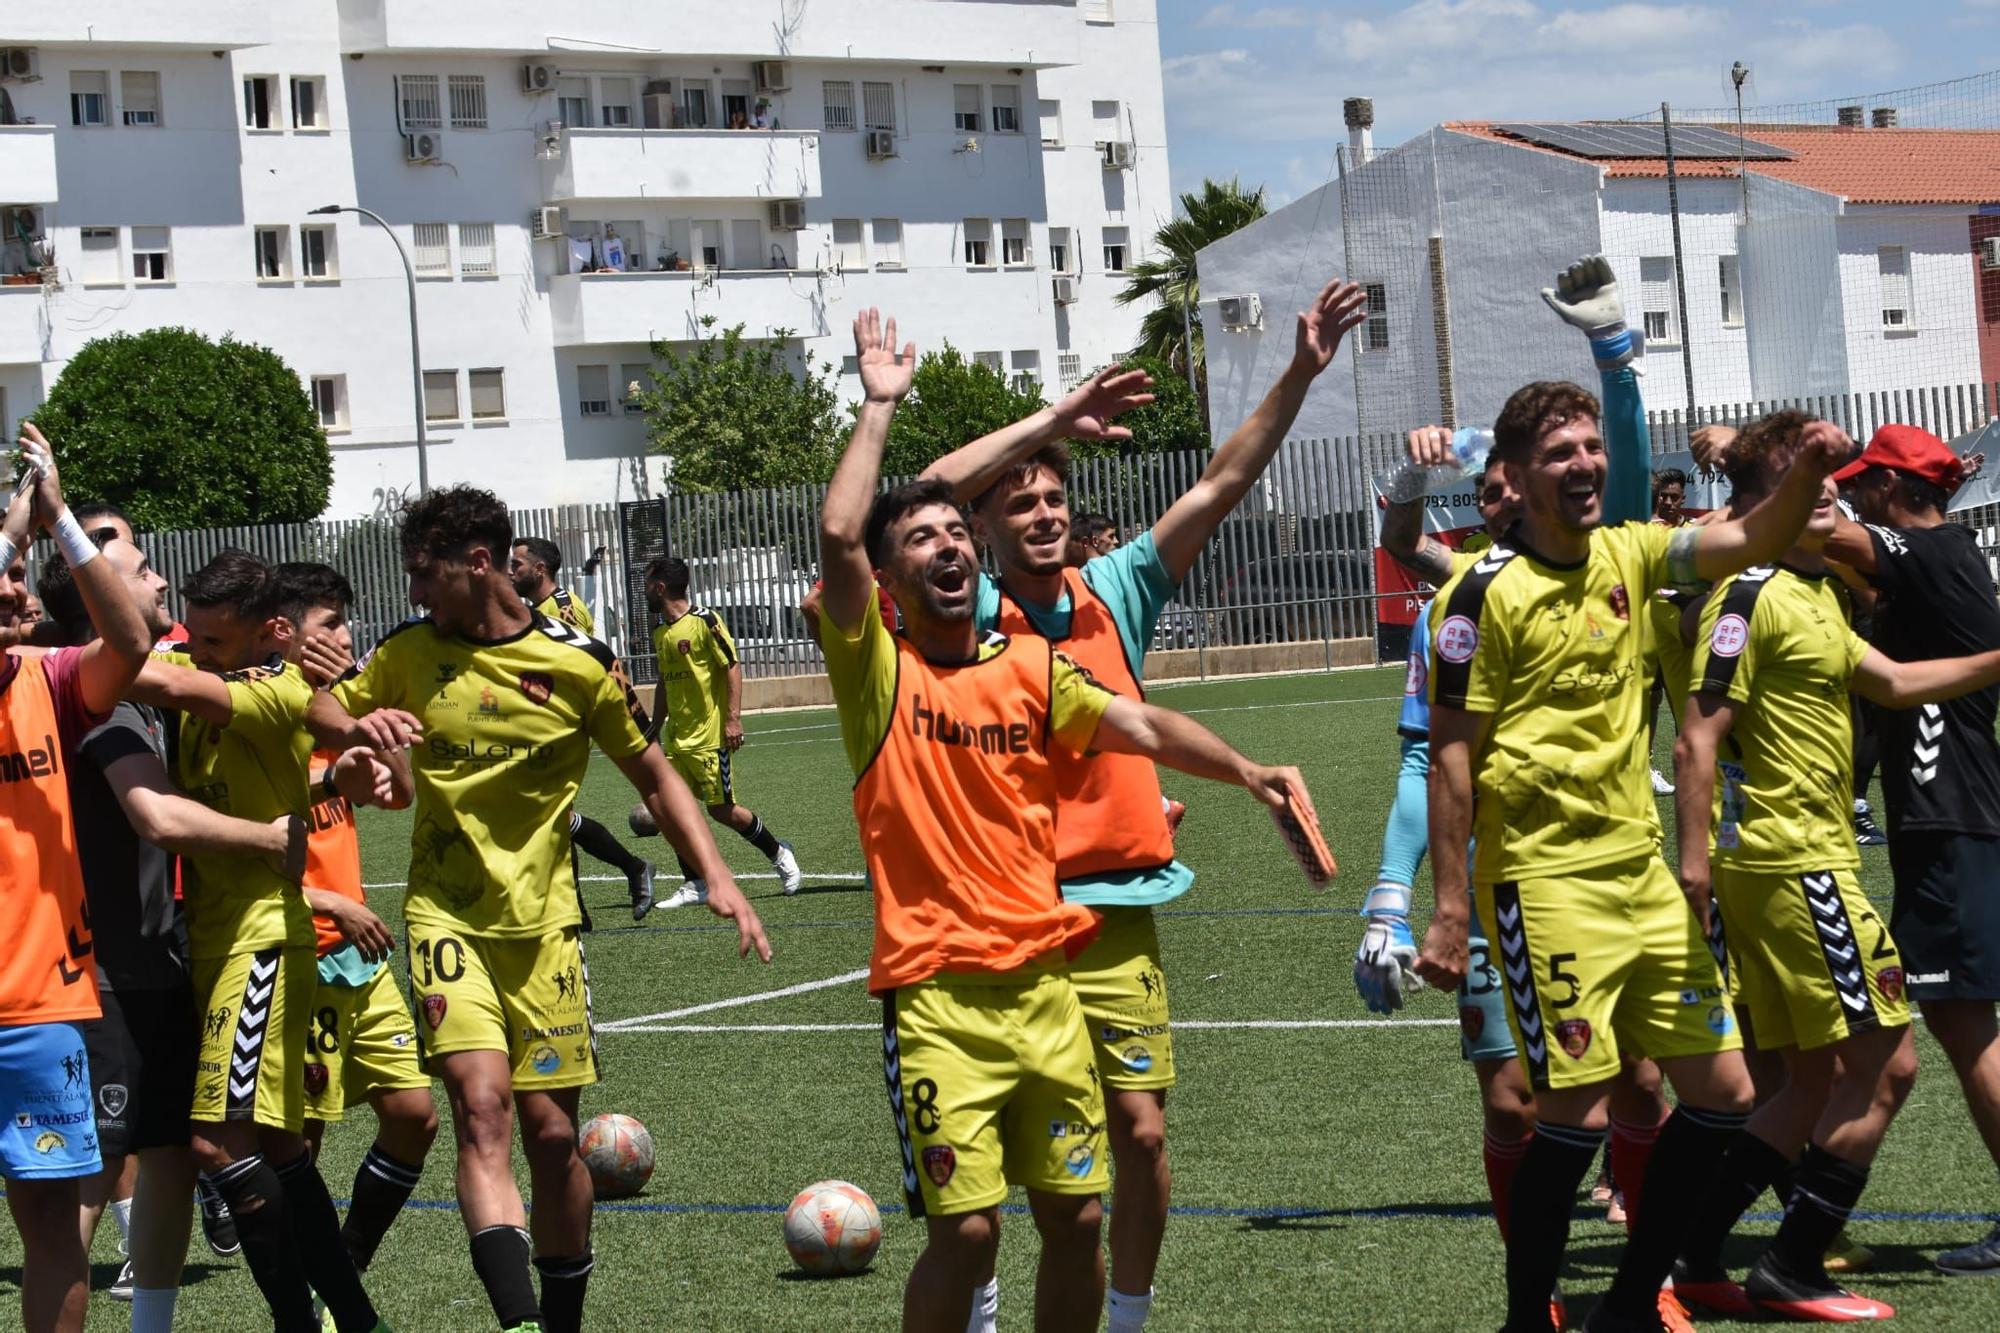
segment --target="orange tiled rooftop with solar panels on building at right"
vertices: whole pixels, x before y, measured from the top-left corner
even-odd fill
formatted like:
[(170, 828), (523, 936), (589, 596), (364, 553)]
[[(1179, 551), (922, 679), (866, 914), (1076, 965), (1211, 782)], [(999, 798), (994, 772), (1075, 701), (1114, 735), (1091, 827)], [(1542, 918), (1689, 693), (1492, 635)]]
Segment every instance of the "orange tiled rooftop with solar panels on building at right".
[[(1550, 130), (1582, 130), (1620, 122), (1550, 122)], [(1612, 178), (1666, 176), (1664, 156), (1586, 156), (1520, 136), (1518, 122), (1448, 120), (1446, 130), (1514, 144), (1530, 152), (1592, 162)], [(1632, 126), (1624, 126), (1632, 128)], [(1718, 126), (1690, 126), (1714, 134)], [(1654, 134), (1658, 128), (1654, 128)], [(1736, 128), (1728, 126), (1734, 138)], [(1788, 180), (1854, 204), (1992, 204), (2000, 202), (2000, 130), (1878, 130), (1816, 124), (1746, 124), (1744, 136), (1790, 158), (1752, 160), (1752, 174)], [(1680, 176), (1736, 176), (1730, 158), (1680, 158)]]

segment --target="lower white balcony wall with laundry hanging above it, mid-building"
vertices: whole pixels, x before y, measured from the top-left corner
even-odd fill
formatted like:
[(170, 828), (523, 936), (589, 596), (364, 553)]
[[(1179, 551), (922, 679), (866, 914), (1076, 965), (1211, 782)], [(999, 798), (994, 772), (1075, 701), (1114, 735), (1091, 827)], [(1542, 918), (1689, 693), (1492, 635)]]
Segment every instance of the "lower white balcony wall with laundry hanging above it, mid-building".
[(794, 268), (706, 272), (572, 272), (548, 280), (556, 346), (592, 342), (686, 342), (716, 328), (744, 326), (752, 338), (778, 328), (816, 338), (826, 332), (820, 274)]

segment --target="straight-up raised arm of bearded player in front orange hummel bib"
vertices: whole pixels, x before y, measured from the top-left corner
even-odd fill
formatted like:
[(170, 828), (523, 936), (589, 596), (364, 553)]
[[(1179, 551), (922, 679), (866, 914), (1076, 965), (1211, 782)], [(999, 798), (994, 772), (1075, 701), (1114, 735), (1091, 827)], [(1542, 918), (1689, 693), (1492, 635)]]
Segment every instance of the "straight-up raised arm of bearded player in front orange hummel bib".
[[(882, 326), (882, 312), (868, 308), (854, 316), (854, 352), (860, 362), (862, 406), (854, 414), (854, 434), (840, 454), (834, 480), (820, 506), (820, 576), (826, 590), (824, 614), (838, 628), (860, 624), (874, 592), (874, 564), (868, 560), (868, 510), (882, 478), (882, 446), (896, 404), (910, 394), (916, 372), (916, 342), (896, 356), (896, 320)], [(666, 825), (662, 825), (664, 829)]]

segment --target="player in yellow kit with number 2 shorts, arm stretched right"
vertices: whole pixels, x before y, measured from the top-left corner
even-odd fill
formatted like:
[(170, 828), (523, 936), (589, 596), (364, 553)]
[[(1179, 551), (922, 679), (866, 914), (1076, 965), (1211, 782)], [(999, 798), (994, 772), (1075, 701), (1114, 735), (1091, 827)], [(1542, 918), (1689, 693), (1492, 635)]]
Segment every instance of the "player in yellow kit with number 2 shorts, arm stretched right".
[[(1736, 438), (1732, 510), (1776, 486), (1814, 426), (1826, 428), (1788, 410)], [(1752, 1303), (1802, 1319), (1894, 1313), (1840, 1289), (1820, 1259), (1916, 1079), (1902, 957), (1860, 889), (1860, 853), (1842, 837), (1854, 755), (1846, 693), (1910, 709), (2000, 683), (2000, 648), (1894, 662), (1848, 626), (1824, 554), (1838, 522), (1834, 500), (1828, 478), (1812, 522), (1778, 564), (1710, 594), (1674, 757), (1680, 827), (1698, 829), (1714, 803), (1714, 853), (1708, 839), (1684, 837), (1682, 885), (1698, 911), (1722, 913), (1758, 1045), (1782, 1051), (1786, 1063), (1784, 1087), (1722, 1159), (1674, 1277), (1686, 1299), (1730, 1315), (1750, 1313)], [(1722, 1269), (1722, 1243), (1800, 1149), (1784, 1225), (1738, 1287)]]

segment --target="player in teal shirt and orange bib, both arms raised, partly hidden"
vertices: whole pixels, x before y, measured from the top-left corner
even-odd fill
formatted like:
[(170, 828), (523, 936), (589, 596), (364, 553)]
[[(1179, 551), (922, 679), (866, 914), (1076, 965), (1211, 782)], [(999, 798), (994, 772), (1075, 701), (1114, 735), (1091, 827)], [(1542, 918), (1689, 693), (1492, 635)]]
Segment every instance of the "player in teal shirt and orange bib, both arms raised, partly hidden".
[[(1070, 524), (1064, 438), (1126, 438), (1110, 424), (1150, 402), (1140, 372), (1112, 366), (1052, 408), (946, 454), (924, 476), (970, 502), (998, 580), (976, 576), (978, 628), (1040, 634), (1100, 685), (1144, 699), (1144, 658), (1160, 608), (1222, 520), (1276, 454), (1312, 380), (1332, 364), (1342, 336), (1366, 318), (1366, 294), (1328, 282), (1298, 316), (1292, 360), (1256, 412), (1214, 452), (1202, 476), (1134, 540), (1066, 566)], [(1102, 536), (1102, 534), (1100, 534)], [(898, 596), (898, 604), (902, 598)], [(1110, 1327), (1144, 1325), (1166, 1233), (1166, 1089), (1174, 1085), (1174, 1045), (1154, 907), (1194, 885), (1174, 859), (1174, 833), (1160, 777), (1144, 759), (1080, 759), (1052, 751), (1062, 791), (1056, 821), (1062, 895), (1094, 907), (1104, 925), (1070, 969), (1096, 1045), (1096, 1065), (1112, 1089)], [(990, 1293), (982, 1291), (982, 1303)]]

